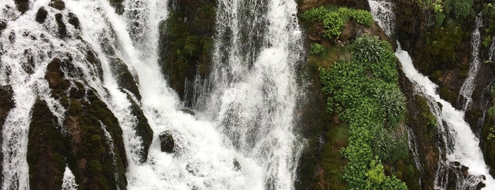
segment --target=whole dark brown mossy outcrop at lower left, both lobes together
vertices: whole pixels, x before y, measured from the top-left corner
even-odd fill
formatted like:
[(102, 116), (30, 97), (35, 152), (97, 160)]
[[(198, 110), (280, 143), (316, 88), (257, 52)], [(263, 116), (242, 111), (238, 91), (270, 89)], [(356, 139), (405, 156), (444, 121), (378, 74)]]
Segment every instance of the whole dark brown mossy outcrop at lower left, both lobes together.
[[(30, 186), (58, 189), (67, 163), (81, 189), (126, 189), (127, 159), (117, 118), (93, 89), (76, 81), (71, 86), (62, 68), (72, 70), (70, 59), (52, 60), (45, 79), (52, 97), (67, 110), (64, 121), (57, 122), (45, 101), (33, 107), (28, 141)], [(113, 150), (103, 130), (110, 134)]]

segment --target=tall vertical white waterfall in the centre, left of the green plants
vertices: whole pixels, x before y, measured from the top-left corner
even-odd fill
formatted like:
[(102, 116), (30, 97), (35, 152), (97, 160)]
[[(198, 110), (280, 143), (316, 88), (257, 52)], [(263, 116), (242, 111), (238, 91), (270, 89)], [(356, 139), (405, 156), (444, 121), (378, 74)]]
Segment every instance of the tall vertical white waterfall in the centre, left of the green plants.
[[(297, 4), (219, 1), (212, 95), (205, 112), (263, 169), (267, 189), (292, 189), (302, 145), (294, 135)], [(212, 115), (211, 113), (214, 113)]]

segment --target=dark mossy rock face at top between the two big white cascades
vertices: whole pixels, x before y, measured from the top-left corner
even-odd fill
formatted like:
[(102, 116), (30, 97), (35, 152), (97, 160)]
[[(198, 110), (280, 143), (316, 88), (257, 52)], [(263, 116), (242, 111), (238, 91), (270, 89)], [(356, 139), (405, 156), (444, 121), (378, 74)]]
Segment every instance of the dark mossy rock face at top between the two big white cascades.
[(185, 83), (193, 82), (196, 74), (204, 79), (210, 72), (216, 1), (175, 2), (175, 10), (161, 23), (159, 56), (169, 85), (185, 100)]

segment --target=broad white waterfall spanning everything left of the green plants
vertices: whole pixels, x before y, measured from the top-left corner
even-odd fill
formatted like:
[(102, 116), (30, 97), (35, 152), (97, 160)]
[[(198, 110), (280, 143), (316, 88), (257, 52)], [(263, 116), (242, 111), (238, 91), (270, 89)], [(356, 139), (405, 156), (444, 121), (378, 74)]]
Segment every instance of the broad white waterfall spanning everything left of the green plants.
[[(207, 105), (198, 106), (198, 118), (181, 111), (181, 101), (160, 72), (159, 24), (167, 16), (166, 1), (127, 0), (123, 15), (106, 0), (64, 2), (59, 11), (48, 0), (33, 1), (25, 13), (14, 1), (0, 2), (0, 19), (7, 23), (0, 35), (0, 85), (11, 86), (15, 100), (3, 126), (2, 189), (29, 189), (25, 157), (35, 100), (46, 101), (64, 125), (64, 107), (52, 98), (44, 76), (51, 60), (68, 56), (75, 69), (64, 70), (66, 79), (94, 89), (118, 118), (128, 189), (294, 189), (302, 149), (294, 129), (295, 67), (302, 52), (294, 1), (218, 2), (211, 94), (198, 103)], [(44, 23), (35, 21), (41, 7), (47, 11)], [(67, 26), (64, 36), (57, 13)], [(65, 19), (71, 14), (80, 27)], [(88, 52), (98, 61), (89, 62)], [(135, 77), (140, 98), (119, 86), (116, 60)], [(133, 104), (154, 131), (143, 163)], [(173, 154), (160, 150), (158, 136), (166, 130), (175, 140)], [(75, 186), (67, 167), (62, 188)]]

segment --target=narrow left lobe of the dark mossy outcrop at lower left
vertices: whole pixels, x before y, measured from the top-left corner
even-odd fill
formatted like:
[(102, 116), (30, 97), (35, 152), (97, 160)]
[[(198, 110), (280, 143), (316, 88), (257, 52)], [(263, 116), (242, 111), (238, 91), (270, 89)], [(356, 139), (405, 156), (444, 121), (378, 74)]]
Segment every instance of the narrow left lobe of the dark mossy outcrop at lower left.
[(29, 184), (32, 189), (59, 189), (64, 177), (67, 141), (45, 101), (33, 106), (29, 125)]

